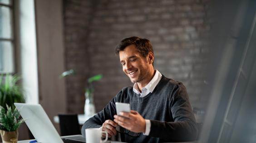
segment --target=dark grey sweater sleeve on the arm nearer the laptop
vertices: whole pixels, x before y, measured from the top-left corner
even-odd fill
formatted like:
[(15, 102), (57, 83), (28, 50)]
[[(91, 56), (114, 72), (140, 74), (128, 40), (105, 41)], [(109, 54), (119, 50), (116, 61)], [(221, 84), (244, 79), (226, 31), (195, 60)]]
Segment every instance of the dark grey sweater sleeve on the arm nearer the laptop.
[[(118, 95), (121, 94), (121, 91), (118, 93)], [(116, 107), (115, 102), (117, 100), (116, 95), (113, 100), (111, 100), (108, 105), (106, 105), (103, 110), (95, 114), (93, 117), (89, 118), (83, 125), (81, 133), (85, 137), (85, 129), (89, 128), (100, 128), (102, 124), (105, 122), (105, 120), (113, 120), (114, 115), (116, 114)]]

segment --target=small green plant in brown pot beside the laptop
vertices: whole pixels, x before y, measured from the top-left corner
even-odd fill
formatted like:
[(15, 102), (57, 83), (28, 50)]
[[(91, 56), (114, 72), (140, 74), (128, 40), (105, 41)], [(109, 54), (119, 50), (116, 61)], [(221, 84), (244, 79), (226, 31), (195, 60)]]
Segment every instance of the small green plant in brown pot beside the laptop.
[(0, 134), (3, 143), (17, 143), (18, 128), (24, 122), (20, 119), (19, 111), (6, 105), (6, 109), (0, 106)]

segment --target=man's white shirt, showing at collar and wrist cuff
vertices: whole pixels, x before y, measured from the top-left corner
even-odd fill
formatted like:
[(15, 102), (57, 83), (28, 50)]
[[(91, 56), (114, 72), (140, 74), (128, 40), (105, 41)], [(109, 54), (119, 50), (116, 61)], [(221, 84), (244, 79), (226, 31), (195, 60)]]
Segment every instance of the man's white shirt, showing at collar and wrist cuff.
[[(158, 85), (159, 81), (161, 80), (161, 77), (162, 77), (162, 74), (158, 70), (156, 70), (154, 77), (148, 83), (147, 86), (142, 88), (141, 93), (139, 92), (137, 83), (135, 83), (133, 85), (133, 92), (138, 94), (141, 98), (145, 97), (146, 95), (148, 95), (149, 93), (152, 93), (154, 91), (155, 87)], [(145, 119), (145, 120), (146, 120), (146, 130), (145, 130), (145, 133), (143, 133), (143, 135), (149, 135), (151, 123), (150, 123), (149, 119)]]

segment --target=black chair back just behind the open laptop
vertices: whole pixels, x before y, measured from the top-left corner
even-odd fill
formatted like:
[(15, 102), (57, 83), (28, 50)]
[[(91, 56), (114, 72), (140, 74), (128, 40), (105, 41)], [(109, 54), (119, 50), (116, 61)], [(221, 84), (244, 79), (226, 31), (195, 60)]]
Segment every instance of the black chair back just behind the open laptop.
[(77, 114), (58, 114), (61, 136), (81, 134)]

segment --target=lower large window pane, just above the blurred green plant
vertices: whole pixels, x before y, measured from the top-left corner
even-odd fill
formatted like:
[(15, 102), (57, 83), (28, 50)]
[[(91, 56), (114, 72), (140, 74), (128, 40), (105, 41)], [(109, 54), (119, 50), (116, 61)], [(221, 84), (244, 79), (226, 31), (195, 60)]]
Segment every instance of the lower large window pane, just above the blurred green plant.
[(0, 41), (0, 73), (14, 72), (14, 51), (10, 41)]

